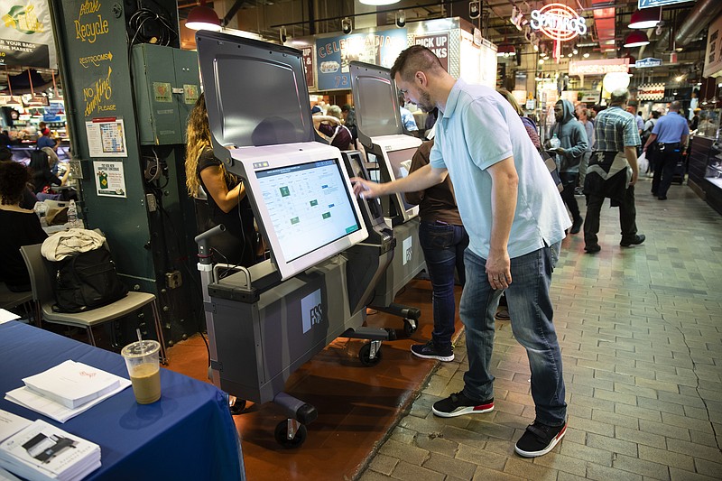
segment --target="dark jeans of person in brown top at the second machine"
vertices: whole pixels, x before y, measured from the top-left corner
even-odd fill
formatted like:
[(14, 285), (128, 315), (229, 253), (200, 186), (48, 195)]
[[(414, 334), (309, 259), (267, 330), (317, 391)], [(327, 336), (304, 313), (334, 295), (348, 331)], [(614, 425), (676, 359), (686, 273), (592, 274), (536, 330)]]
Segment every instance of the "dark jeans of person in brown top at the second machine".
[(431, 337), (436, 346), (451, 347), (456, 318), (454, 270), (458, 270), (458, 280), (464, 285), (467, 231), (462, 226), (421, 221), (419, 241), (433, 288), (434, 330)]

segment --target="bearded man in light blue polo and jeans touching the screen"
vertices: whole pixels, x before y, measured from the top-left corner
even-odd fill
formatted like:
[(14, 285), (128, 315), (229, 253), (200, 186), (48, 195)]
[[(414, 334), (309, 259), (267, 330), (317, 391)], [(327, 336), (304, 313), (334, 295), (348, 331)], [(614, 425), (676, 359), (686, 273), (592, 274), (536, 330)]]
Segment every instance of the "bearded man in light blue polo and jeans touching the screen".
[(354, 189), (362, 197), (423, 190), (449, 174), (469, 235), (467, 283), (459, 306), (469, 369), (463, 391), (434, 403), (433, 413), (455, 417), (494, 409), (489, 364), (494, 314), (505, 290), (514, 337), (529, 357), (536, 404), (536, 419), (515, 451), (542, 456), (567, 426), (549, 286), (569, 216), (521, 118), (494, 89), (454, 79), (432, 51), (419, 45), (399, 55), (391, 74), (403, 95), (422, 110), (439, 107), (430, 164), (384, 184), (355, 179)]

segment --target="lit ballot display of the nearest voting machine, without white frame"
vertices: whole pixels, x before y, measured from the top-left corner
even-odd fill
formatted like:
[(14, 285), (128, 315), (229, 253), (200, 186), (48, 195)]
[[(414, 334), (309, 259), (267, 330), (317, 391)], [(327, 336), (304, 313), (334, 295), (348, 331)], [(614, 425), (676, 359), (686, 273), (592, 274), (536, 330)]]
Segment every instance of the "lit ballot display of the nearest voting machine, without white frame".
[(336, 160), (256, 171), (285, 261), (361, 229)]

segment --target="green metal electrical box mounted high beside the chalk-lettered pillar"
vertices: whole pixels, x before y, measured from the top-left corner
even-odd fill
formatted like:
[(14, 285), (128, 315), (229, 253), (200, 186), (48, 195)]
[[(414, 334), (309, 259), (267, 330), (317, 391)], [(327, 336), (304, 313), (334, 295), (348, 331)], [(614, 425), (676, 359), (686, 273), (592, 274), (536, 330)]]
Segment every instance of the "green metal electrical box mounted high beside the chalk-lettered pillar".
[(188, 115), (200, 96), (198, 54), (142, 43), (133, 46), (132, 63), (141, 143), (185, 143)]

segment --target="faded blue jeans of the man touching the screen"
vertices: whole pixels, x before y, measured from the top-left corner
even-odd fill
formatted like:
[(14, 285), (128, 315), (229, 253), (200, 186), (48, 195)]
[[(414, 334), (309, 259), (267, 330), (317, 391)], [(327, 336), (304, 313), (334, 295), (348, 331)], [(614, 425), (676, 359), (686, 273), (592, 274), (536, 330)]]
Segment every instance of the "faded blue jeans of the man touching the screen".
[[(552, 324), (549, 295), (551, 247), (511, 260), (512, 283), (506, 288), (514, 338), (526, 348), (532, 371), (532, 398), (536, 421), (560, 426), (566, 421), (561, 351)], [(459, 316), (467, 331), (468, 371), (464, 394), (478, 401), (494, 396), (494, 375), (489, 372), (494, 347), (494, 314), (502, 291), (495, 291), (486, 276), (486, 259), (466, 252), (467, 284)]]

